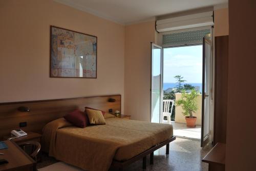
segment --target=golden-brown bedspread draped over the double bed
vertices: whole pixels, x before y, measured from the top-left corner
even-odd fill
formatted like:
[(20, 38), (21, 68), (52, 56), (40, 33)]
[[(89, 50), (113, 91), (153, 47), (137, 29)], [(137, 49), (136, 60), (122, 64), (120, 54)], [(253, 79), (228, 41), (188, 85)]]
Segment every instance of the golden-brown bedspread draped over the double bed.
[(173, 136), (171, 125), (105, 120), (106, 125), (77, 128), (63, 118), (57, 119), (44, 128), (42, 146), (58, 160), (86, 170), (108, 170), (113, 158), (130, 159)]

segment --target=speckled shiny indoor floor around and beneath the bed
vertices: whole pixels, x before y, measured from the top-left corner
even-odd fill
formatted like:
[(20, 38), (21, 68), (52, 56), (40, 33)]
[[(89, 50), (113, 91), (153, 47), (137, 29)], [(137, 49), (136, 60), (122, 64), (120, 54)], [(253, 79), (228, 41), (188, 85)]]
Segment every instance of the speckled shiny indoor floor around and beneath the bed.
[[(177, 138), (170, 143), (169, 155), (165, 155), (165, 146), (155, 151), (154, 165), (150, 165), (149, 156), (147, 157), (147, 171), (206, 171), (208, 164), (202, 163), (201, 159), (209, 152), (210, 148), (200, 148), (200, 141)], [(57, 162), (53, 158), (43, 155), (43, 162), (38, 163), (37, 167), (41, 168)], [(69, 167), (67, 165), (67, 167)], [(67, 169), (68, 170), (68, 169)], [(114, 169), (111, 169), (111, 171)], [(139, 160), (127, 168), (125, 171), (144, 170), (142, 169), (142, 160)], [(49, 170), (52, 171), (52, 170)], [(54, 170), (59, 171), (59, 170)]]

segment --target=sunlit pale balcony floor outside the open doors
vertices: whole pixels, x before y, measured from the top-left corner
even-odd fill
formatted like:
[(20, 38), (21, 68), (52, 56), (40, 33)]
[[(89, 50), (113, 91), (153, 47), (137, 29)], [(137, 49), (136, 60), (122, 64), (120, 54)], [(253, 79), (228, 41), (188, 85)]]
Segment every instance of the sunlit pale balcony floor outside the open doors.
[(172, 121), (174, 128), (174, 135), (180, 138), (189, 138), (194, 140), (201, 139), (201, 126), (197, 125), (196, 128), (188, 128), (186, 124), (175, 123)]

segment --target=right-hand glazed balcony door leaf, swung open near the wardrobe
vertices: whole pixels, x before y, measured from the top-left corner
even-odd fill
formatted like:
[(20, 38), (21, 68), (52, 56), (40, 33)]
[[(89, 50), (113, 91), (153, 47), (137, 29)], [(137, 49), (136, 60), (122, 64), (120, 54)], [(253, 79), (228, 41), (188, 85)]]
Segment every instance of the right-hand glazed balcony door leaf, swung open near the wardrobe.
[(211, 40), (203, 38), (203, 87), (202, 87), (202, 130), (201, 147), (209, 142), (210, 129), (210, 61), (211, 61)]

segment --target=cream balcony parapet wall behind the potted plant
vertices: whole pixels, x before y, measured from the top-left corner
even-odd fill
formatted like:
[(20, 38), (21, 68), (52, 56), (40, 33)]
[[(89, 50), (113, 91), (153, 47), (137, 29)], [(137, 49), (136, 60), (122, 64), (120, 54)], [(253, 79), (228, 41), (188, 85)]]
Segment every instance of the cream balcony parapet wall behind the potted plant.
[[(181, 93), (175, 93), (175, 99), (178, 101), (181, 98)], [(202, 94), (199, 94), (197, 97), (197, 105), (198, 110), (193, 113), (193, 116), (197, 117), (197, 125), (202, 125)], [(182, 107), (181, 106), (175, 106), (175, 122), (176, 123), (186, 123), (185, 116), (182, 114)]]

